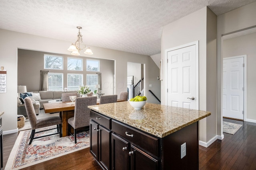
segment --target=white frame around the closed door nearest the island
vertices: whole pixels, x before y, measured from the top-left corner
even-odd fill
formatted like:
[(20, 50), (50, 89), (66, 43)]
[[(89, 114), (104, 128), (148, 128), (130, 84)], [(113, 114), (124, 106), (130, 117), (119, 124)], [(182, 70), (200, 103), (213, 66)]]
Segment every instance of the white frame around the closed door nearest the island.
[[(194, 41), (191, 43), (187, 43), (187, 44), (183, 44), (183, 45), (179, 45), (176, 47), (172, 47), (170, 49), (166, 49), (164, 52), (164, 72), (165, 72), (165, 77), (166, 77), (166, 92), (168, 92), (168, 63), (167, 63), (167, 59), (168, 59), (168, 52), (169, 51), (174, 51), (177, 49), (182, 49), (185, 47), (189, 47), (192, 45), (196, 45), (196, 109), (199, 109), (199, 47), (198, 47), (198, 42), (199, 41)], [(168, 104), (168, 95), (165, 95), (165, 103), (166, 105)]]

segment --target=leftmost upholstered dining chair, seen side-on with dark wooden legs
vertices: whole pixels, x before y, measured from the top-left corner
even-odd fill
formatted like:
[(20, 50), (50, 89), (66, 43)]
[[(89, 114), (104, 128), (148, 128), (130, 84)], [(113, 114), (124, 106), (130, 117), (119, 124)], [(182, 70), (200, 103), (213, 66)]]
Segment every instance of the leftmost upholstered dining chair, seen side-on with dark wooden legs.
[[(38, 138), (47, 137), (47, 136), (56, 135), (56, 134), (60, 134), (60, 137), (62, 137), (62, 120), (59, 116), (49, 116), (49, 117), (37, 119), (36, 111), (33, 107), (31, 98), (26, 97), (24, 99), (24, 104), (25, 104), (25, 109), (26, 109), (28, 119), (29, 119), (29, 122), (31, 125), (31, 129), (32, 129), (32, 132), (30, 135), (30, 141), (29, 141), (28, 145), (30, 145), (32, 143), (33, 139), (38, 139)], [(36, 132), (36, 129), (42, 128), (42, 127), (48, 127), (48, 126), (52, 126), (52, 125), (57, 125), (57, 128), (52, 128), (52, 129), (57, 129), (57, 133), (51, 133), (48, 135), (34, 137), (35, 133), (52, 130), (52, 129), (47, 129), (47, 130), (42, 130), (42, 131)]]

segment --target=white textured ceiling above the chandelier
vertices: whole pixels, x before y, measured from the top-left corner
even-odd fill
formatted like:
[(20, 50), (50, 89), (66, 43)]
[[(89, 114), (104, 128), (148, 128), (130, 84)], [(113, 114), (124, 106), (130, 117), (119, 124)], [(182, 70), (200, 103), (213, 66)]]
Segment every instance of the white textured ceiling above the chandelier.
[(74, 43), (81, 26), (87, 47), (155, 55), (164, 25), (205, 6), (218, 16), (254, 1), (1, 0), (0, 29)]

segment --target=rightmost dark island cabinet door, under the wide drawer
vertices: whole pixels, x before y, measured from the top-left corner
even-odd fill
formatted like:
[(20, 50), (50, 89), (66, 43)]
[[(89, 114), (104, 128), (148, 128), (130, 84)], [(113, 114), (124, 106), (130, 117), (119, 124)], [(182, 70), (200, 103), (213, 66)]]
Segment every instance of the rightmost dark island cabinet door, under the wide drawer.
[(131, 170), (158, 170), (158, 160), (131, 145)]

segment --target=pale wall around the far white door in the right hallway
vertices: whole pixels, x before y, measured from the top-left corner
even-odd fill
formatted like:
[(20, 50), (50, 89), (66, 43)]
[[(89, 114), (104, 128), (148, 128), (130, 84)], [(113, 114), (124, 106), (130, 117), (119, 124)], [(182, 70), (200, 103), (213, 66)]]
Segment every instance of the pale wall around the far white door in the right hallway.
[[(256, 33), (226, 39), (222, 45), (222, 55), (225, 57), (234, 57), (247, 55), (246, 57), (246, 117), (245, 121), (256, 122)], [(249, 120), (248, 120), (249, 119)]]

